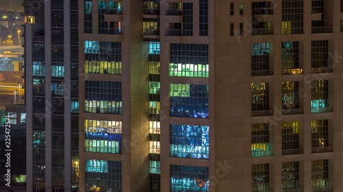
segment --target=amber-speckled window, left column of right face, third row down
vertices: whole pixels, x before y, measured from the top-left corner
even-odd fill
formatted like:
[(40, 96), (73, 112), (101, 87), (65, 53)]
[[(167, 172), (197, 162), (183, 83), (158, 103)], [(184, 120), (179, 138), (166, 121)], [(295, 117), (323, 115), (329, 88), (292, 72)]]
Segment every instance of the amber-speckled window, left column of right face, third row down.
[(269, 110), (269, 83), (251, 83), (252, 111)]

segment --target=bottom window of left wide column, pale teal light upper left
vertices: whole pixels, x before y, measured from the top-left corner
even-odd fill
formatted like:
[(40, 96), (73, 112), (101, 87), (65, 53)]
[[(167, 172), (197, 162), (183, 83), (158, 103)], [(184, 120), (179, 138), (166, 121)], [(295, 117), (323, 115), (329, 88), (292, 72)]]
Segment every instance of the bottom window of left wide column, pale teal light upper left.
[(121, 191), (121, 162), (86, 159), (85, 191)]

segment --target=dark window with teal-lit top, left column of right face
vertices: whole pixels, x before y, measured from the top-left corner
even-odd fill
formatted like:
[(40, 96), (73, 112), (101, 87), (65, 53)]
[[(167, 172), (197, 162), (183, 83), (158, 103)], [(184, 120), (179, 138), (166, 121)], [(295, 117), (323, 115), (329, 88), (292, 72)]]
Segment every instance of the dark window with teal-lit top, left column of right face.
[(269, 69), (269, 42), (253, 42), (251, 44), (251, 70)]

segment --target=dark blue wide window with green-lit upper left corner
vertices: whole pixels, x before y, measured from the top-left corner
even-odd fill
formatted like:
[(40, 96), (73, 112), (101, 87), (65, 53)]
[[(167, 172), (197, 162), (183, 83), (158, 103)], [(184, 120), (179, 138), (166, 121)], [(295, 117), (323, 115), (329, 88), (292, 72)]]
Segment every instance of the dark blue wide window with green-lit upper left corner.
[(209, 118), (209, 85), (170, 84), (170, 115)]

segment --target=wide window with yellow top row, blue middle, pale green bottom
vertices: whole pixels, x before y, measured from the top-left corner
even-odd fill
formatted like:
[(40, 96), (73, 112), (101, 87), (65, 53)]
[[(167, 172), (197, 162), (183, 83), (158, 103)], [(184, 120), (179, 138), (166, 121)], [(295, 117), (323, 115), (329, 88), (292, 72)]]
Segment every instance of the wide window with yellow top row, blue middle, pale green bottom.
[(84, 151), (121, 153), (121, 122), (85, 120)]

